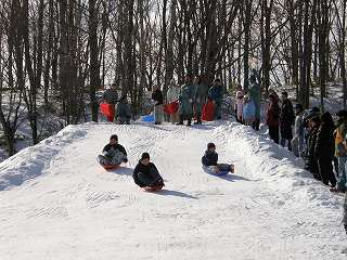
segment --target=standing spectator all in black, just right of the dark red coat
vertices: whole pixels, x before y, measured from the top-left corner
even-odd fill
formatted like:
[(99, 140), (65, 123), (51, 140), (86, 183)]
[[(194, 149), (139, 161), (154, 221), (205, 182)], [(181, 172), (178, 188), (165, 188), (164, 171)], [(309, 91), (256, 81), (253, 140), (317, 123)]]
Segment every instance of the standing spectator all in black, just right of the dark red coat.
[(292, 139), (293, 139), (293, 129), (292, 125), (294, 123), (295, 116), (293, 104), (288, 99), (288, 93), (286, 91), (282, 92), (282, 107), (281, 107), (281, 145), (285, 147), (286, 143), (288, 150), (292, 151)]

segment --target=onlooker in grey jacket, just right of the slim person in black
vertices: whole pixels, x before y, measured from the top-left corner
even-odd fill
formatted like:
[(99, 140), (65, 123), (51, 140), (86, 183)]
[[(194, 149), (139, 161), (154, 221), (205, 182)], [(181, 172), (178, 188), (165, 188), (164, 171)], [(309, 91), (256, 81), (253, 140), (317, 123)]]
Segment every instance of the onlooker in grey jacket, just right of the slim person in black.
[(305, 128), (304, 128), (304, 107), (301, 104), (296, 104), (295, 106), (295, 127), (294, 127), (294, 138), (292, 142), (292, 148), (294, 155), (299, 157), (304, 153), (305, 143)]

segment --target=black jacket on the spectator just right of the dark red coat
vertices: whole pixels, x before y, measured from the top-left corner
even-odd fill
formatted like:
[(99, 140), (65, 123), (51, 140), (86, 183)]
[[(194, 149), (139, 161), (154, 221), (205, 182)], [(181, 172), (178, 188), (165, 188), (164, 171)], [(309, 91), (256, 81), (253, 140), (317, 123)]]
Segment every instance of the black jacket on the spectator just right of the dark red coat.
[(295, 115), (292, 102), (286, 99), (283, 101), (281, 108), (281, 136), (282, 139), (292, 140), (292, 125), (294, 123)]

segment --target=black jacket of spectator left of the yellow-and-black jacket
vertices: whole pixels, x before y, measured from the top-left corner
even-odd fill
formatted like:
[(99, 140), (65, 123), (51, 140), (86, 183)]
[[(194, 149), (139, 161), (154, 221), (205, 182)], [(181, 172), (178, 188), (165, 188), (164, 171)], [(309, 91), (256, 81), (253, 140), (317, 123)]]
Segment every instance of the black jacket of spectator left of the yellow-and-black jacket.
[(317, 133), (314, 154), (317, 158), (333, 158), (334, 153), (334, 129), (322, 123)]

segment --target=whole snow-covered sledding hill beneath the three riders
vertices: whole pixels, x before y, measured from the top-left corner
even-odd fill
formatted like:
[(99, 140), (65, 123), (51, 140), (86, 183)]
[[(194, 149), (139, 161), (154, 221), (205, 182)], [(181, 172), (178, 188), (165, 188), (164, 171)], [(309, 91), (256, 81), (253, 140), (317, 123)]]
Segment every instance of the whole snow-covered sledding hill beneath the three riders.
[[(112, 133), (130, 162), (106, 172), (95, 157)], [(203, 171), (209, 141), (235, 174)], [(132, 182), (145, 151), (163, 192)], [(0, 164), (1, 260), (345, 259), (343, 197), (298, 164), (234, 122), (69, 126)]]

